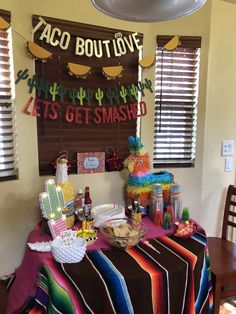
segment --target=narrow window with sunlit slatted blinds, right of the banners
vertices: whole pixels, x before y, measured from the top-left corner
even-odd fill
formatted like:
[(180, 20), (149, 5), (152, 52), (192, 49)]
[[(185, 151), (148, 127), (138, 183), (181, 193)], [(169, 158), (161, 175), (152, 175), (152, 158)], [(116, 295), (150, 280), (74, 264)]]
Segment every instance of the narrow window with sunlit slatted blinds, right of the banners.
[(155, 78), (153, 167), (193, 167), (195, 162), (201, 37), (158, 36)]

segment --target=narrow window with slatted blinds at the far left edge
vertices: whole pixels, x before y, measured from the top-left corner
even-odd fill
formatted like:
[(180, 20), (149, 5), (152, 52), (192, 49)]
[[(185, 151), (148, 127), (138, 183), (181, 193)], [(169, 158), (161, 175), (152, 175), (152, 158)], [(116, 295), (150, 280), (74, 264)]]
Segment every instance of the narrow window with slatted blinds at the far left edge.
[[(0, 10), (10, 23), (10, 12)], [(17, 177), (14, 134), (14, 73), (11, 28), (0, 30), (0, 180)]]

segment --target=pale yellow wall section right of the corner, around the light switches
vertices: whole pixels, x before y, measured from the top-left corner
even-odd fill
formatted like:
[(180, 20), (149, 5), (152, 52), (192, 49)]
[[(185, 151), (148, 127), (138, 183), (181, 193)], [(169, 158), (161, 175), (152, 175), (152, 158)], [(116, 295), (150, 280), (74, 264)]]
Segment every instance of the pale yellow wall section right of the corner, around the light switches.
[(236, 140), (235, 17), (235, 3), (212, 2), (200, 217), (209, 234), (219, 234), (227, 185), (235, 184), (235, 157), (227, 173), (220, 154), (222, 140)]

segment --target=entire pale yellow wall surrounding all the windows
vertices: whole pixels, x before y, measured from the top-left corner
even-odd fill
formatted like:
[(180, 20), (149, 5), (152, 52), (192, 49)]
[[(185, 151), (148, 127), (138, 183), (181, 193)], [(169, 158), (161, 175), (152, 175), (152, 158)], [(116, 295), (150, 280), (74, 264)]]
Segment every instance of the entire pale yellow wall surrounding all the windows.
[[(211, 4), (213, 5), (212, 17)], [(236, 29), (234, 25), (236, 6), (217, 0), (212, 0), (211, 3), (209, 0), (202, 9), (191, 16), (150, 24), (110, 18), (98, 12), (89, 0), (68, 2), (8, 0), (0, 4), (0, 8), (12, 12), (12, 27), (26, 40), (31, 38), (33, 14), (142, 32), (144, 33), (144, 56), (154, 51), (157, 34), (202, 36), (196, 166), (191, 169), (169, 170), (174, 173), (175, 180), (182, 185), (183, 204), (190, 207), (192, 217), (200, 220), (207, 231), (215, 233), (222, 193), (227, 184), (234, 183), (234, 172), (224, 173), (220, 145), (223, 138), (234, 139), (233, 85), (235, 80), (233, 81), (234, 74), (231, 73), (233, 66), (231, 64), (226, 66), (225, 63), (229, 59), (228, 55), (233, 57), (236, 53), (235, 44), (232, 43)], [(221, 15), (223, 11), (229, 14), (229, 17), (228, 15), (227, 18), (224, 17), (225, 14)], [(221, 26), (223, 20), (225, 20), (226, 30)], [(227, 36), (224, 32), (228, 32)], [(25, 45), (26, 42), (13, 32), (15, 72), (28, 68), (30, 74), (33, 74), (34, 64), (25, 52)], [(226, 51), (225, 47), (229, 51)], [(147, 70), (144, 75), (154, 83), (154, 69)], [(33, 117), (22, 113), (29, 97), (26, 84), (26, 81), (21, 82), (16, 88), (19, 180), (0, 182), (0, 275), (13, 271), (20, 264), (27, 234), (41, 218), (38, 195), (44, 189), (46, 177), (38, 175), (36, 121)], [(225, 99), (222, 103), (223, 97)], [(148, 105), (148, 114), (142, 119), (141, 138), (151, 154), (154, 95), (149, 94), (145, 101)], [(230, 127), (227, 126), (227, 121), (232, 122)], [(124, 203), (123, 187), (126, 181), (124, 172), (70, 175), (69, 179), (75, 189), (89, 185), (94, 204)], [(213, 214), (214, 219), (212, 219)]]

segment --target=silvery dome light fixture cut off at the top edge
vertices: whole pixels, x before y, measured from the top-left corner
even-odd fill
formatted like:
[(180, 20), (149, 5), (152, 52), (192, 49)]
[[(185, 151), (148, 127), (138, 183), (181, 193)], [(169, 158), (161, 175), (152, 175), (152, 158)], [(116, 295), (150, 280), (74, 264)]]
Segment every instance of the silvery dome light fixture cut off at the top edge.
[(189, 15), (207, 0), (91, 0), (102, 13), (133, 22), (160, 22)]

